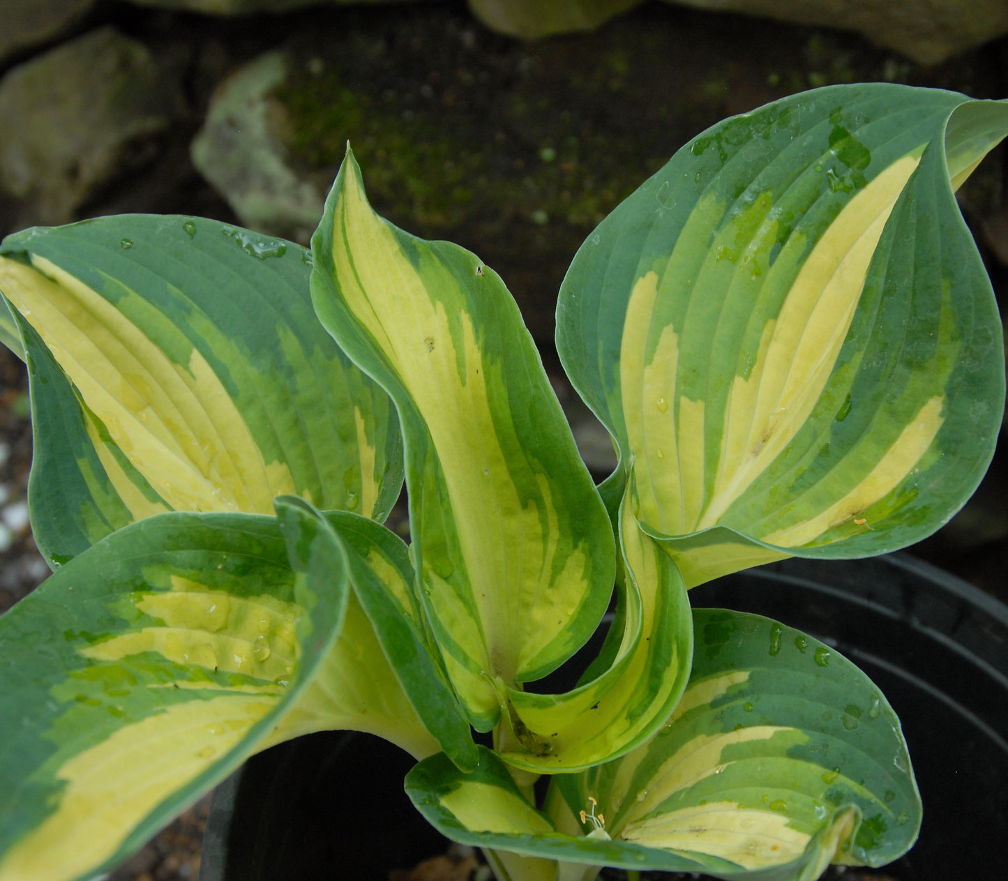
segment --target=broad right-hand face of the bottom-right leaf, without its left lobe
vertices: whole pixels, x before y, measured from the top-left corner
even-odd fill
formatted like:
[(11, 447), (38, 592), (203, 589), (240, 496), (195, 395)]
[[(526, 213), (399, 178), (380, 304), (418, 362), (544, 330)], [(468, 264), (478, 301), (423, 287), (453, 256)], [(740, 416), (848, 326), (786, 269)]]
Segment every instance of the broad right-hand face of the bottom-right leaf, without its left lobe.
[(694, 617), (682, 701), (645, 746), (555, 778), (557, 828), (580, 830), (591, 796), (614, 838), (747, 870), (787, 864), (784, 877), (905, 853), (920, 798), (881, 691), (834, 649), (775, 621), (710, 609)]

